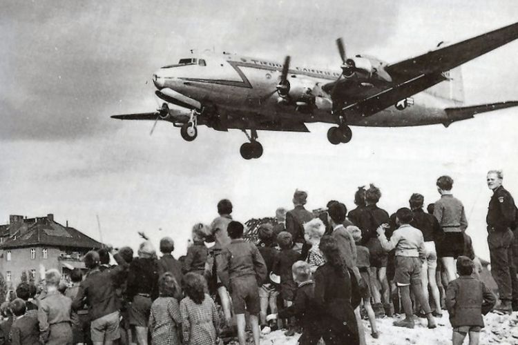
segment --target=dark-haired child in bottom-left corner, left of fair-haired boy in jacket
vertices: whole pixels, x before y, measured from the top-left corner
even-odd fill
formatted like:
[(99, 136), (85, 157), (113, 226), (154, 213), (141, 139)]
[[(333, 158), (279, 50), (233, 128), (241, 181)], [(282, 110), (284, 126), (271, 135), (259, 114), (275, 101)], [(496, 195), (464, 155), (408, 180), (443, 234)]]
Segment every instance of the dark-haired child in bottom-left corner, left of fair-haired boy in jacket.
[(38, 319), (26, 315), (26, 305), (23, 299), (17, 298), (12, 301), (11, 310), (15, 315), (15, 321), (11, 326), (11, 344), (39, 345)]

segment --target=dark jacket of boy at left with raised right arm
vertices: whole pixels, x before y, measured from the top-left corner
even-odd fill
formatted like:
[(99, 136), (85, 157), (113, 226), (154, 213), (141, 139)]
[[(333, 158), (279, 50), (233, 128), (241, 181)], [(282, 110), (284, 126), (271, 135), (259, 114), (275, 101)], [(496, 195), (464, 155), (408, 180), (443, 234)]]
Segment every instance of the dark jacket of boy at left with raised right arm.
[(92, 320), (118, 311), (120, 301), (115, 289), (122, 285), (125, 275), (126, 268), (123, 266), (116, 266), (104, 272), (98, 269), (91, 270), (86, 279), (79, 284), (77, 295), (72, 302), (73, 310), (78, 311), (87, 304)]

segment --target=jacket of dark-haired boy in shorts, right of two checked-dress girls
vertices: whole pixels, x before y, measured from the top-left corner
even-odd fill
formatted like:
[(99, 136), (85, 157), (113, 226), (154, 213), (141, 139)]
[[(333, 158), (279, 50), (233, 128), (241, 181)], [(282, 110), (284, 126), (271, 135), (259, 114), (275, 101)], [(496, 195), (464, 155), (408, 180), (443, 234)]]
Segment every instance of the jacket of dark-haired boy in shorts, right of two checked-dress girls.
[[(267, 268), (265, 260), (262, 259), (258, 248), (244, 239), (233, 239), (232, 242), (221, 253), (221, 265), (218, 263), (218, 270), (221, 271), (220, 279), (225, 286), (239, 277), (253, 275), (257, 279), (258, 285), (265, 282)], [(225, 281), (228, 277), (228, 281)]]

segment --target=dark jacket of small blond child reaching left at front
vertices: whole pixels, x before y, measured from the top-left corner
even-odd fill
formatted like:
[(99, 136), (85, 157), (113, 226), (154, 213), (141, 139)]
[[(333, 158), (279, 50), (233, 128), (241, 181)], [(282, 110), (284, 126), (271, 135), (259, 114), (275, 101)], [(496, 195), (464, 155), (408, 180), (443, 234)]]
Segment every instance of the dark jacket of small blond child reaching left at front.
[[(304, 333), (320, 333), (320, 308), (315, 301), (315, 283), (312, 280), (303, 282), (297, 288), (295, 300), (291, 306), (279, 311), (280, 319), (296, 317), (300, 320), (300, 326)], [(305, 337), (305, 335), (302, 337)], [(299, 339), (300, 342), (300, 339)]]

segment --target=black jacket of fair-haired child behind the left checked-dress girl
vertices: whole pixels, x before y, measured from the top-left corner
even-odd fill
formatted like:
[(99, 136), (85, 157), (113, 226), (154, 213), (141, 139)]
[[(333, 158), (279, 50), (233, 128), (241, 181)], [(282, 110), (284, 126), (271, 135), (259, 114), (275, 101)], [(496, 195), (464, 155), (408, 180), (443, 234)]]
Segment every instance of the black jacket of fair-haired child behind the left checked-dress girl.
[(126, 294), (131, 300), (137, 294), (158, 297), (158, 264), (153, 258), (136, 257), (130, 263)]

